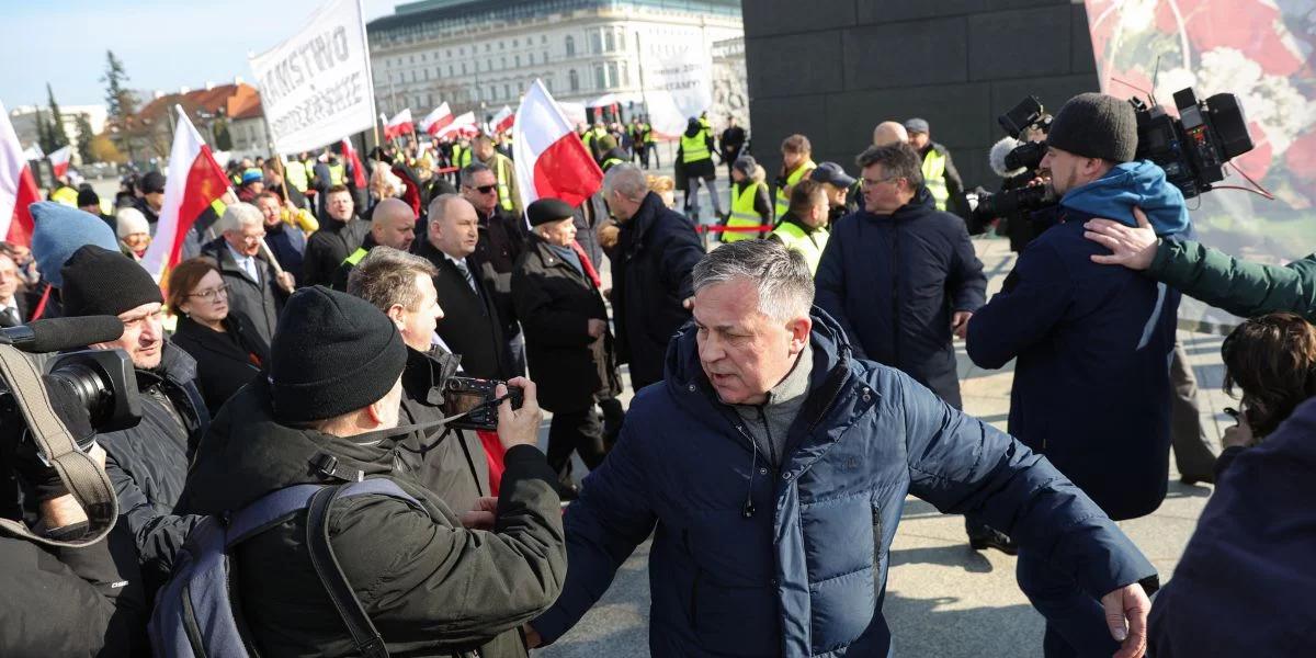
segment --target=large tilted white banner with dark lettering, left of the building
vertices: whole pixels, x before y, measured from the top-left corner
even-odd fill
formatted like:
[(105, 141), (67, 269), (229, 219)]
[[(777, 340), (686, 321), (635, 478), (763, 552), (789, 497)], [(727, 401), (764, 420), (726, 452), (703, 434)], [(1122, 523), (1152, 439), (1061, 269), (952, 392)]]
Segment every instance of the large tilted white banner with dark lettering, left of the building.
[(318, 149), (375, 124), (357, 0), (333, 0), (283, 43), (250, 58), (275, 150)]

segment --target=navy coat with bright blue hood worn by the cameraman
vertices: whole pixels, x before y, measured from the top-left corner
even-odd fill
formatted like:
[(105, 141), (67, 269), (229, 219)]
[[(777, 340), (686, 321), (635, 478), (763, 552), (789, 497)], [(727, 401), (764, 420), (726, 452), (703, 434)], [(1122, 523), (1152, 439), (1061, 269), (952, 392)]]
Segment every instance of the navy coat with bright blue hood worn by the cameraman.
[[(1138, 164), (1138, 163), (1130, 163)], [(1136, 191), (1136, 193), (1134, 193)], [(1180, 234), (1183, 196), (1155, 166), (1120, 166), (1070, 191), (1057, 222), (1019, 255), (999, 295), (969, 321), (969, 357), (1015, 365), (1009, 433), (1045, 454), (1112, 519), (1152, 513), (1170, 468), (1170, 353), (1179, 292), (1124, 267), (1096, 265), (1105, 247), (1083, 222), (1133, 224), (1154, 208)]]

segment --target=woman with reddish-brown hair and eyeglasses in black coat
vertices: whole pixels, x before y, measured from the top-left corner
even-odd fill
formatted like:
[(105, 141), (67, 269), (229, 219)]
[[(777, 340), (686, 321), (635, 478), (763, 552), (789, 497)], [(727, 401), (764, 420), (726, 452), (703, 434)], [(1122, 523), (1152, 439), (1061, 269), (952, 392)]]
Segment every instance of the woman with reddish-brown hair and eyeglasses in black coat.
[(183, 261), (170, 272), (168, 307), (179, 316), (174, 345), (196, 359), (196, 383), (215, 416), (263, 370), (270, 346), (251, 320), (229, 308), (228, 284), (209, 258)]

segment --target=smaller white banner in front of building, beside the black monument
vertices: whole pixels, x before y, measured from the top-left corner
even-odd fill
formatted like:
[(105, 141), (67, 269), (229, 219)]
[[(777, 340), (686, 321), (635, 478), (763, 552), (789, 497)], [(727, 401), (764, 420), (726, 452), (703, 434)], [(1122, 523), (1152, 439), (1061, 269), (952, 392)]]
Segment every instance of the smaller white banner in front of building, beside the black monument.
[(645, 100), (649, 124), (665, 137), (686, 132), (690, 117), (697, 117), (713, 104), (713, 61), (707, 49), (671, 47), (646, 42)]

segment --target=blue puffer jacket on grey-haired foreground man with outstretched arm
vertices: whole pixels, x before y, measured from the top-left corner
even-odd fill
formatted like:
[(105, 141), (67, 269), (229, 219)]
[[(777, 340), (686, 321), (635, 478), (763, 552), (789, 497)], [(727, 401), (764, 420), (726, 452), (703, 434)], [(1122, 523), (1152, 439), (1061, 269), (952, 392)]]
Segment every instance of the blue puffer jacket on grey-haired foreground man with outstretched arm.
[(653, 655), (887, 655), (887, 551), (908, 492), (980, 513), (1094, 597), (1155, 574), (1046, 459), (904, 374), (853, 359), (821, 311), (812, 346), (809, 393), (774, 468), (709, 386), (695, 332), (671, 342), (666, 380), (636, 396), (621, 441), (567, 509), (567, 583), (532, 622), (545, 641), (655, 532)]

